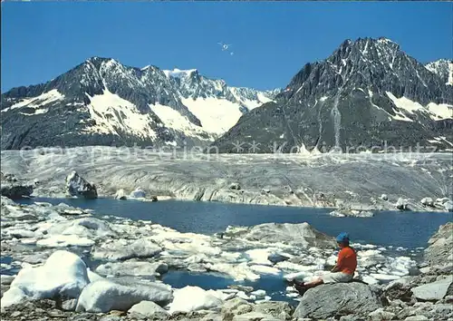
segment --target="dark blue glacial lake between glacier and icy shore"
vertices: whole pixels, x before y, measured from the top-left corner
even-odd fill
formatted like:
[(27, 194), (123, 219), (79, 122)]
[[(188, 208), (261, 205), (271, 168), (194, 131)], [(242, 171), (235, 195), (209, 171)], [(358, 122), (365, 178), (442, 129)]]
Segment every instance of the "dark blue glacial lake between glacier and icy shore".
[(335, 236), (350, 233), (353, 242), (403, 248), (425, 248), (440, 225), (453, 221), (453, 213), (378, 211), (373, 218), (335, 218), (332, 209), (291, 208), (218, 202), (162, 200), (142, 202), (117, 199), (23, 199), (22, 203), (64, 202), (98, 215), (147, 219), (181, 232), (213, 234), (228, 225), (308, 222), (315, 229)]

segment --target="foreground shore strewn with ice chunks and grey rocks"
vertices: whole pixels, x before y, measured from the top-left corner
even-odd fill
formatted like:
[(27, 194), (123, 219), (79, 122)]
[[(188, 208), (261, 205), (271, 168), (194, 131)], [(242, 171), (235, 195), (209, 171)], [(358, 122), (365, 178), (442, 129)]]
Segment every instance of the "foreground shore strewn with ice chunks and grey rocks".
[[(453, 223), (429, 240), (424, 265), (353, 244), (354, 282), (301, 297), (285, 280), (322, 275), (337, 254), (333, 237), (306, 223), (206, 236), (65, 204), (2, 197), (1, 211), (2, 320), (453, 320)], [(176, 269), (236, 284), (172, 288), (162, 276)], [(265, 277), (282, 279), (288, 302), (241, 285)]]

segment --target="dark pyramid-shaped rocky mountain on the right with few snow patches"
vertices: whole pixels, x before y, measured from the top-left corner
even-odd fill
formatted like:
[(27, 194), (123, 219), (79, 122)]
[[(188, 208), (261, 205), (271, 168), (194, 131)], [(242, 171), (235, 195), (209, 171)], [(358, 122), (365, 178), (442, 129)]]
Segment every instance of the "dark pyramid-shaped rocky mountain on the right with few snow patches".
[(255, 152), (453, 147), (453, 86), (388, 39), (345, 41), (324, 61), (305, 64), (275, 100), (214, 145), (226, 152), (250, 152), (253, 141)]

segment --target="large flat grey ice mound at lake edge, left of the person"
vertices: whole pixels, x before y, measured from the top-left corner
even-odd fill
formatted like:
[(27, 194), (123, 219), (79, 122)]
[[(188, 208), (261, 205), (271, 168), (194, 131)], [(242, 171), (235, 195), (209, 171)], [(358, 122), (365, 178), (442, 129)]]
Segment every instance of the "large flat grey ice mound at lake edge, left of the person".
[(335, 248), (335, 238), (330, 237), (304, 222), (301, 224), (290, 223), (265, 223), (253, 227), (228, 227), (226, 237), (246, 238), (268, 244), (284, 243), (303, 248)]

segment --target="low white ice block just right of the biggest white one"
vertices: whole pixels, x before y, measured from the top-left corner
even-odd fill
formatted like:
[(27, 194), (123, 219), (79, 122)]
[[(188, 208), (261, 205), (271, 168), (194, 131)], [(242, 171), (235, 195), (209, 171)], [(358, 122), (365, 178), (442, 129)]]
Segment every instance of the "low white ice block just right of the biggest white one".
[(128, 311), (141, 301), (164, 306), (171, 301), (171, 287), (156, 282), (133, 279), (98, 280), (83, 288), (77, 303), (77, 312), (105, 313), (111, 310)]

